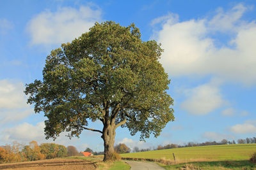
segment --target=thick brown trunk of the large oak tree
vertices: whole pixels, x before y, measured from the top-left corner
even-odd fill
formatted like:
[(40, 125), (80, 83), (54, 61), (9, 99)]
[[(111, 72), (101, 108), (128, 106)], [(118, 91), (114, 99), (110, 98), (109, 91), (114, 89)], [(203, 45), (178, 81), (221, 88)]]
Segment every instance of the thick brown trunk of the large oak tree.
[(115, 143), (115, 124), (113, 125), (104, 125), (101, 138), (104, 141), (104, 159), (103, 161), (116, 160), (114, 155), (114, 143)]

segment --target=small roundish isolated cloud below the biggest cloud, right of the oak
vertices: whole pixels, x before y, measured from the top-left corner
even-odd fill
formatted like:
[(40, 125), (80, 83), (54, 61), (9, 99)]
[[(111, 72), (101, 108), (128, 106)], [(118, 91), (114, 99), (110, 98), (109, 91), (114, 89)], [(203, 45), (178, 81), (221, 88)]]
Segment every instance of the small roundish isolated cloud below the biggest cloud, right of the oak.
[(212, 82), (186, 89), (187, 99), (180, 104), (180, 108), (193, 115), (206, 115), (227, 103), (223, 100), (218, 85)]

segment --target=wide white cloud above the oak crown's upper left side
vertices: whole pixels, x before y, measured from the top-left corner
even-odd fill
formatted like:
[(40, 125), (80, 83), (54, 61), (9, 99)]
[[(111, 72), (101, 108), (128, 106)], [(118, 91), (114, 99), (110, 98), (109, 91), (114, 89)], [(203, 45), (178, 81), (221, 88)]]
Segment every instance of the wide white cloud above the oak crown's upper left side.
[(56, 12), (43, 11), (29, 21), (31, 44), (66, 43), (81, 36), (100, 20), (101, 11), (90, 6), (59, 8)]

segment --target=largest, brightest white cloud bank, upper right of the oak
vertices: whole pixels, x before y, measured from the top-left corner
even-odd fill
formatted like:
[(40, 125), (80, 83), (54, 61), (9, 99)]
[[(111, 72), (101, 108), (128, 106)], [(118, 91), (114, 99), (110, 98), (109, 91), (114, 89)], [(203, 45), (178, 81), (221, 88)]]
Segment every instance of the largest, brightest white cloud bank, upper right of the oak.
[[(244, 85), (256, 83), (256, 24), (241, 19), (248, 10), (237, 4), (227, 12), (220, 8), (212, 18), (173, 22), (177, 17), (168, 14), (153, 20), (163, 21), (154, 36), (163, 45), (160, 61), (166, 71), (170, 76), (214, 74)], [(221, 41), (216, 33), (231, 40), (216, 45)]]

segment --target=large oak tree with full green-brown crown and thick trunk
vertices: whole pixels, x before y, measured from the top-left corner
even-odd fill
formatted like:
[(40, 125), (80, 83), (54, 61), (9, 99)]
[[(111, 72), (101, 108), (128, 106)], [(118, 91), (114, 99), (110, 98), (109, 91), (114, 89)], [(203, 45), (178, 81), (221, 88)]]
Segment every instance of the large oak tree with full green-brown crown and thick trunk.
[[(44, 112), (46, 138), (67, 131), (70, 138), (84, 130), (102, 134), (104, 160), (114, 153), (115, 131), (127, 127), (140, 139), (159, 136), (174, 120), (168, 74), (159, 63), (163, 50), (156, 41), (142, 41), (134, 24), (95, 23), (72, 43), (47, 56), (43, 80), (26, 85), (28, 103)], [(103, 129), (90, 129), (100, 120)]]

